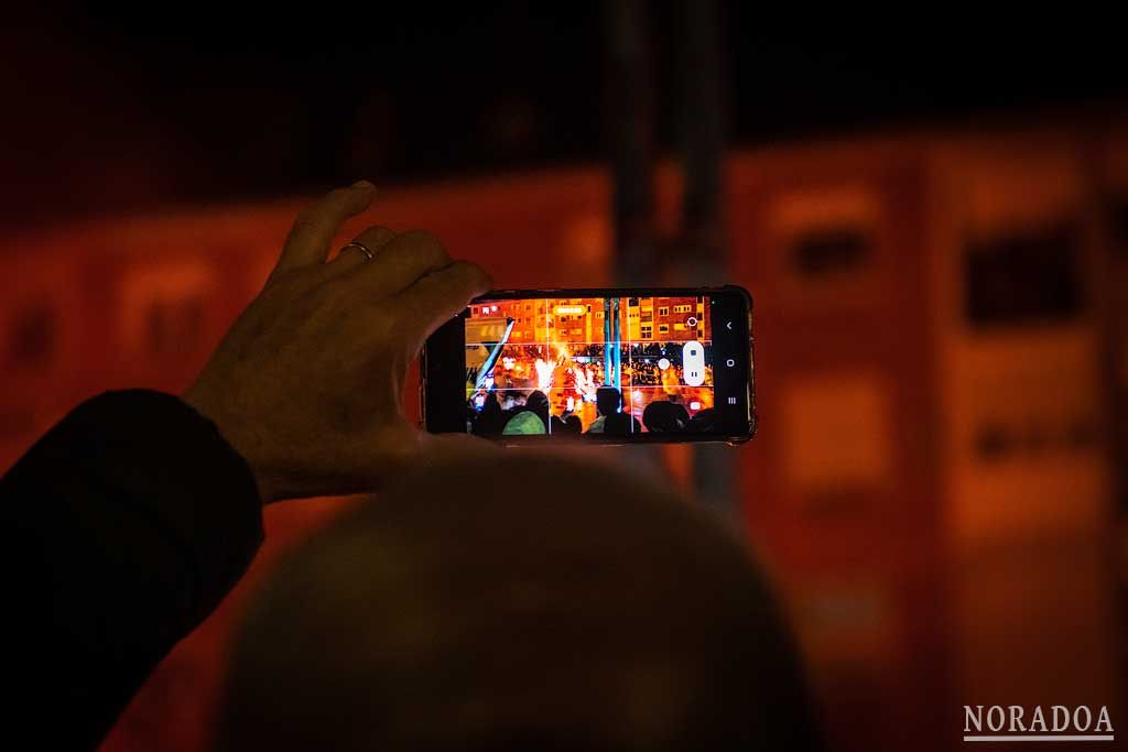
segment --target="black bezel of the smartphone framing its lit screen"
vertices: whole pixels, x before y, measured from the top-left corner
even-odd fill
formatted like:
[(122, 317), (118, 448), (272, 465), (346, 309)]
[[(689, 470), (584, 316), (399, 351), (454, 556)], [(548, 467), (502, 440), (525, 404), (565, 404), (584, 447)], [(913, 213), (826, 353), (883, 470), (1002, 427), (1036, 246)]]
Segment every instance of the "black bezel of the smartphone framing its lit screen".
[[(743, 389), (738, 392), (744, 395), (743, 406), (747, 407), (747, 424), (741, 417), (722, 426), (722, 430), (713, 433), (636, 433), (627, 436), (607, 436), (603, 434), (582, 434), (581, 436), (562, 437), (554, 435), (550, 439), (540, 435), (512, 435), (512, 436), (490, 436), (490, 441), (506, 446), (530, 446), (530, 445), (559, 445), (569, 444), (601, 444), (601, 445), (640, 445), (640, 444), (669, 444), (669, 443), (699, 443), (699, 442), (723, 442), (729, 444), (742, 444), (756, 435), (756, 378), (755, 378), (755, 353), (752, 337), (752, 297), (744, 287), (739, 285), (721, 286), (603, 286), (603, 287), (548, 287), (548, 289), (509, 289), (492, 290), (470, 301), (470, 306), (491, 300), (513, 300), (513, 299), (537, 299), (537, 298), (649, 298), (649, 297), (688, 297), (688, 295), (719, 295), (733, 297), (742, 302), (742, 309), (734, 313), (733, 343), (740, 343), (747, 337), (747, 347), (734, 347), (732, 353), (737, 356), (740, 372), (747, 375), (743, 379)], [(464, 433), (446, 424), (439, 425), (433, 419), (437, 415), (444, 415), (452, 410), (465, 410), (465, 325), (462, 324), (468, 315), (468, 308), (458, 316), (440, 327), (428, 338), (421, 354), (420, 365), (420, 425), (433, 433)], [(711, 311), (712, 316), (712, 311)], [(716, 347), (717, 333), (714, 326), (713, 346)], [(456, 344), (457, 343), (457, 344)], [(717, 363), (720, 359), (714, 351), (714, 384), (717, 378)], [(458, 387), (453, 387), (455, 374), (458, 375)], [(739, 382), (739, 380), (738, 380)], [(440, 390), (439, 384), (444, 386)], [(444, 393), (444, 391), (447, 393)], [(738, 395), (739, 396), (739, 395)], [(457, 399), (456, 399), (457, 397)], [(725, 407), (728, 414), (730, 408)], [(747, 425), (747, 430), (744, 426)], [(435, 431), (446, 428), (446, 431)], [(738, 430), (739, 428), (739, 430)]]

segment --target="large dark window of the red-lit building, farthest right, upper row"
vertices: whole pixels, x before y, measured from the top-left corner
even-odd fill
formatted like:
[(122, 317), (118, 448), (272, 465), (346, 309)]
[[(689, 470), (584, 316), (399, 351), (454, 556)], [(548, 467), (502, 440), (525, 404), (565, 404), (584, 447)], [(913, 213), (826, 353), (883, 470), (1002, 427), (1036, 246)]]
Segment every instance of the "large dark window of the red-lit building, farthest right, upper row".
[(964, 308), (977, 325), (1064, 321), (1084, 308), (1079, 228), (1061, 222), (968, 242)]

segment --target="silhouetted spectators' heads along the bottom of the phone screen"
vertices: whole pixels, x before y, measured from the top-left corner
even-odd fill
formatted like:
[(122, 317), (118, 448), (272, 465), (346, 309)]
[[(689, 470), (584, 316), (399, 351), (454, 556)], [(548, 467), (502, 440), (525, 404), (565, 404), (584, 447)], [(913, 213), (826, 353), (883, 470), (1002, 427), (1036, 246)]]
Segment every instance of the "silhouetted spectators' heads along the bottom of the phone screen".
[(676, 397), (655, 400), (646, 406), (642, 423), (623, 409), (623, 393), (615, 387), (600, 387), (596, 391), (598, 416), (584, 430), (580, 416), (572, 412), (555, 415), (548, 398), (540, 390), (522, 392), (491, 391), (481, 412), (472, 415), (472, 432), (479, 436), (558, 434), (602, 434), (625, 436), (642, 433), (706, 433), (713, 431), (713, 408), (698, 410), (690, 416)]

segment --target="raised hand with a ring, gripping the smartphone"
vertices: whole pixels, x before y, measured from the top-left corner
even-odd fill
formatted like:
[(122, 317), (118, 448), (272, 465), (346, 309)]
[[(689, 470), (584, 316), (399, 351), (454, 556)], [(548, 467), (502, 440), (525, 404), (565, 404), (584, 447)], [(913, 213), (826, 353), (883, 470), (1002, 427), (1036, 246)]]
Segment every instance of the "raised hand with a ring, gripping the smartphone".
[(294, 222), (266, 286), (220, 343), (185, 401), (246, 459), (264, 503), (373, 490), (451, 442), (408, 424), (407, 366), (426, 337), (490, 290), (426, 232), (380, 227), (326, 263), (342, 223), (374, 188), (334, 191)]

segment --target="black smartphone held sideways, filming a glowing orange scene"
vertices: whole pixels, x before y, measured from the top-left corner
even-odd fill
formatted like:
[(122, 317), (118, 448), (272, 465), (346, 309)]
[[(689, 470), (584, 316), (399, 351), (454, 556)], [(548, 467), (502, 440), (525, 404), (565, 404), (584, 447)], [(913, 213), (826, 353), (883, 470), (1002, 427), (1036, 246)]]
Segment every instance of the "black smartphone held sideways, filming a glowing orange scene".
[(734, 285), (495, 290), (428, 339), (423, 424), (513, 445), (746, 442), (751, 311)]

